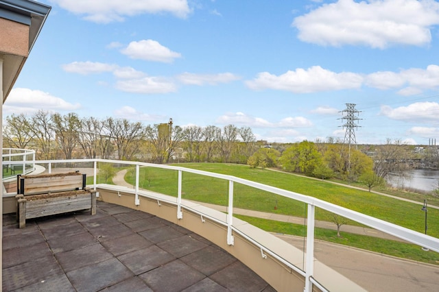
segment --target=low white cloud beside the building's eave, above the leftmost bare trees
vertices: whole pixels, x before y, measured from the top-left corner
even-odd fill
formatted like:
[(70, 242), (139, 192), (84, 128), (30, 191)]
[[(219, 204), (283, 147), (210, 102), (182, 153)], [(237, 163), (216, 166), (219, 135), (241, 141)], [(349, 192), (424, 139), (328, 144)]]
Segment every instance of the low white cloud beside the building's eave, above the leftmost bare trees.
[(41, 90), (13, 88), (3, 105), (3, 114), (32, 114), (38, 110), (72, 111), (79, 108), (81, 108), (80, 104), (70, 104), (60, 97), (54, 97)]

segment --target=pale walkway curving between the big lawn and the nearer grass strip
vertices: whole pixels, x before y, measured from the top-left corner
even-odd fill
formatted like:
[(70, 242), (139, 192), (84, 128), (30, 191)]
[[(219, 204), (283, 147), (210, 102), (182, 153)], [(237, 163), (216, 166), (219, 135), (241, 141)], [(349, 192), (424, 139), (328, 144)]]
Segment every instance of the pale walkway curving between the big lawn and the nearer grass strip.
[[(134, 186), (132, 186), (131, 184), (128, 184), (128, 182), (126, 182), (124, 179), (127, 171), (128, 170), (126, 170), (126, 169), (123, 171), (119, 171), (115, 175), (115, 177), (112, 179), (112, 182), (118, 186), (127, 186), (129, 188), (134, 188)], [(227, 212), (226, 206), (219, 206), (219, 205), (207, 204), (207, 203), (201, 203), (201, 202), (198, 202), (198, 204), (202, 204), (203, 206), (212, 208), (214, 210), (218, 210), (220, 212)], [(233, 212), (237, 215), (245, 215), (245, 216), (249, 216), (249, 217), (256, 217), (256, 218), (262, 218), (262, 219), (270, 219), (270, 220), (274, 220), (274, 221), (281, 221), (281, 222), (288, 222), (288, 223), (301, 224), (301, 225), (305, 224), (306, 225), (306, 220), (302, 217), (274, 214), (274, 213), (269, 213), (269, 212), (259, 212), (259, 211), (254, 211), (254, 210), (241, 209), (241, 208), (233, 208)], [(333, 222), (316, 220), (315, 224), (316, 224), (317, 228), (337, 230), (337, 226)], [(340, 228), (340, 232), (361, 234), (361, 235), (378, 237), (381, 239), (391, 239), (394, 241), (403, 241), (402, 239), (399, 239), (398, 237), (392, 236), (392, 235), (387, 234), (385, 232), (381, 232), (379, 230), (375, 230), (372, 228), (364, 228), (364, 227), (359, 227), (359, 226), (343, 225)], [(403, 241), (403, 242), (405, 242), (405, 241)]]

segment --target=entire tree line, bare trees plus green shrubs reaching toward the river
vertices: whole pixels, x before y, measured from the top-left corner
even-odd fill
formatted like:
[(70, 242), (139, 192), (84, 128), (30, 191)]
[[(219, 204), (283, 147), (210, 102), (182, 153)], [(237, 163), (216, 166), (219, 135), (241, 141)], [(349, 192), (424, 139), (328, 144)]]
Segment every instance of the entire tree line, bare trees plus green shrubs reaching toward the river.
[[(40, 110), (12, 114), (3, 125), (3, 147), (34, 149), (37, 160), (103, 158), (142, 162), (232, 162), (277, 167), (316, 178), (361, 181), (369, 188), (390, 173), (403, 173), (412, 150), (401, 141), (385, 145), (347, 145), (327, 141), (257, 142), (250, 127), (226, 125), (143, 125), (127, 119), (80, 118)], [(167, 130), (163, 132), (163, 125)], [(166, 129), (166, 127), (165, 127)], [(354, 147), (353, 147), (354, 148)]]

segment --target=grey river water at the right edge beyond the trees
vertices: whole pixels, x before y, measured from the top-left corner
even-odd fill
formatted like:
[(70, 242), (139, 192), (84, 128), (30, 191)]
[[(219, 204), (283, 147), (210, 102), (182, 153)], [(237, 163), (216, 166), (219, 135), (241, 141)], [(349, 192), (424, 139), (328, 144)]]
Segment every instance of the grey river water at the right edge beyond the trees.
[(396, 188), (416, 188), (420, 191), (433, 191), (439, 188), (439, 171), (431, 169), (411, 169), (404, 177), (389, 173), (387, 182)]

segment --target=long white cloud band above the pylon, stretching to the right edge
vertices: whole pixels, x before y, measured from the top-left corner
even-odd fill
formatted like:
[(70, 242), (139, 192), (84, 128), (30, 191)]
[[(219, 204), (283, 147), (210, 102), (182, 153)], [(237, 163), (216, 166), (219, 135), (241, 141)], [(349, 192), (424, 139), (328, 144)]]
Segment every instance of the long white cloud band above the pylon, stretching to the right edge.
[(399, 95), (416, 95), (423, 90), (439, 88), (439, 66), (413, 68), (399, 72), (379, 71), (370, 74), (353, 72), (335, 73), (320, 66), (296, 69), (281, 75), (262, 72), (254, 80), (246, 81), (252, 90), (274, 89), (292, 93), (355, 89), (361, 86), (381, 90), (397, 89)]

